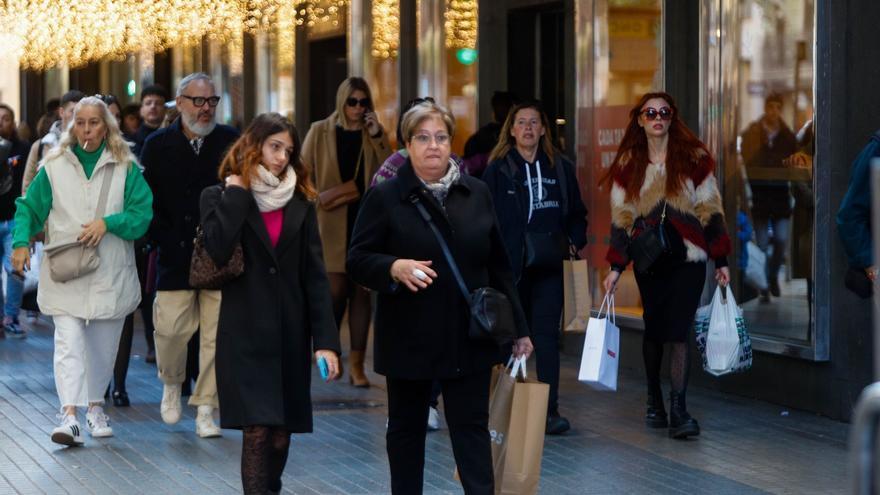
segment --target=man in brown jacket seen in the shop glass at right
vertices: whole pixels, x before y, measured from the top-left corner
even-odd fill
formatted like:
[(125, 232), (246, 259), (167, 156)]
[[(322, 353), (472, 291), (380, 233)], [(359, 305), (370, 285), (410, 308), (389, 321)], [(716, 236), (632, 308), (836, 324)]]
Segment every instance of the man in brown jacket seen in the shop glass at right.
[[(782, 120), (782, 96), (771, 93), (764, 99), (764, 114), (742, 135), (742, 158), (750, 168), (783, 168), (785, 159), (797, 151), (797, 139)], [(751, 175), (751, 174), (750, 174)], [(752, 221), (758, 247), (767, 253), (768, 290), (761, 302), (779, 297), (779, 268), (788, 254), (792, 200), (788, 181), (751, 179)], [(771, 235), (772, 233), (772, 235)]]

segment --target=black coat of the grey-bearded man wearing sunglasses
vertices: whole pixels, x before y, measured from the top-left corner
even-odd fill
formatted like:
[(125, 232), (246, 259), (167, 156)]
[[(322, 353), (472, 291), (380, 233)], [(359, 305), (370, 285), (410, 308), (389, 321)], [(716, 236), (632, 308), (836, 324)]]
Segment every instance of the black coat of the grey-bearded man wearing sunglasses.
[(159, 250), (158, 290), (192, 290), (189, 264), (199, 222), (202, 190), (220, 182), (217, 170), (238, 131), (217, 125), (199, 154), (183, 134), (180, 118), (147, 138), (141, 151), (144, 179), (153, 191), (153, 222), (148, 238)]

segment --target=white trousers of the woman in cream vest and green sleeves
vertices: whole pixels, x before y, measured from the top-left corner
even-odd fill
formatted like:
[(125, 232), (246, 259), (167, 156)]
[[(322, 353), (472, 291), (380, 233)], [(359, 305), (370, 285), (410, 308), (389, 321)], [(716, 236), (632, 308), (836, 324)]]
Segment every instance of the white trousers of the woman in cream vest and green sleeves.
[(54, 316), (55, 388), (61, 407), (103, 403), (125, 318), (86, 320)]

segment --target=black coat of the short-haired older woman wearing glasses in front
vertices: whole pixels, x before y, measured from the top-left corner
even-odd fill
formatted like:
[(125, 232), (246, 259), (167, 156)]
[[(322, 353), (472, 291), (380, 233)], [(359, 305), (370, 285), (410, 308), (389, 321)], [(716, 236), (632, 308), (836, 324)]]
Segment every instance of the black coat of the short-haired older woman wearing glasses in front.
[[(407, 160), (397, 177), (364, 197), (346, 265), (357, 283), (379, 293), (375, 370), (400, 379), (485, 371), (498, 362), (499, 348), (468, 338), (467, 303), (436, 237), (410, 202), (411, 194), (421, 198), (445, 236), (468, 289), (491, 286), (503, 292), (513, 305), (518, 336), (529, 335), (486, 185), (462, 175), (450, 188), (444, 211)], [(410, 292), (390, 275), (399, 258), (431, 260), (438, 277), (427, 289)]]

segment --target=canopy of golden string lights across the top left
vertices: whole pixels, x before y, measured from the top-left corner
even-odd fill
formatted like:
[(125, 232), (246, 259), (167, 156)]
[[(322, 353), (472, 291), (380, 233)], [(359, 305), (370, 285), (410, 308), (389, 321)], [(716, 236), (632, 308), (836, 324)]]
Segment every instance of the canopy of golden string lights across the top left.
[[(191, 46), (204, 38), (338, 25), (348, 0), (4, 0), (0, 54), (24, 69), (77, 67), (131, 53)], [(287, 37), (292, 39), (292, 37)]]

